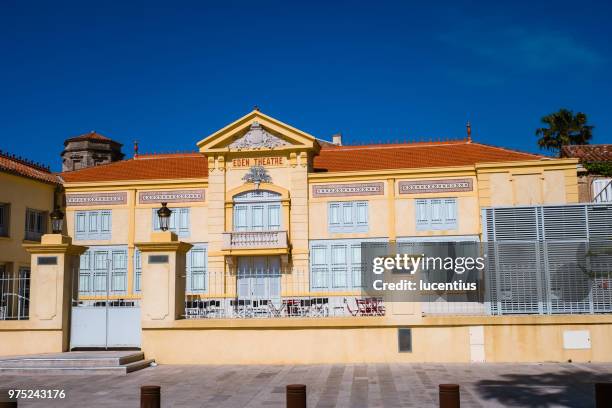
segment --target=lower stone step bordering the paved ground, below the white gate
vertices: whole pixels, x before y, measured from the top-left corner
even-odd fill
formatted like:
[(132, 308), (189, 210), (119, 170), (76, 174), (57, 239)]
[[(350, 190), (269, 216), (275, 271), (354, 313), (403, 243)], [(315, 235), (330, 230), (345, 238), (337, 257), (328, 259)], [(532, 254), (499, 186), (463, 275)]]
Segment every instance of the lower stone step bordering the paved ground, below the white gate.
[(4, 375), (115, 375), (124, 376), (142, 370), (155, 362), (153, 359), (134, 361), (109, 367), (0, 367)]

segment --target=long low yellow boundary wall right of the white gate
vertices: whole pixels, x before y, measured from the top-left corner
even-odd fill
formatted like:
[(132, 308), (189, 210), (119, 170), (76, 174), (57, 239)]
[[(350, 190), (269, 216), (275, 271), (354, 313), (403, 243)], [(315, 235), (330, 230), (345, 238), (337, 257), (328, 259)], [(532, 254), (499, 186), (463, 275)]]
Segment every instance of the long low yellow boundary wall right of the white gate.
[[(486, 362), (612, 361), (610, 316), (264, 320), (147, 326), (143, 350), (162, 364), (469, 363), (470, 328), (483, 326)], [(412, 352), (398, 352), (398, 327), (412, 329)], [(565, 330), (589, 330), (591, 349), (564, 349)], [(185, 352), (184, 344), (200, 346)]]

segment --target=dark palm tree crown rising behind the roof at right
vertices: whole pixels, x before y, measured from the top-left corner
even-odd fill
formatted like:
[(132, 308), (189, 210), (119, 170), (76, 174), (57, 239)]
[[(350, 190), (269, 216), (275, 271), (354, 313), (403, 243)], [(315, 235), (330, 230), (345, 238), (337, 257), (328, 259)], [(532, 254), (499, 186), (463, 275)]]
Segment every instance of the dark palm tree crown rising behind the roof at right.
[(593, 126), (587, 125), (586, 114), (582, 112), (574, 115), (569, 109), (559, 109), (541, 121), (548, 126), (536, 130), (541, 149), (560, 151), (565, 145), (588, 144), (593, 137)]

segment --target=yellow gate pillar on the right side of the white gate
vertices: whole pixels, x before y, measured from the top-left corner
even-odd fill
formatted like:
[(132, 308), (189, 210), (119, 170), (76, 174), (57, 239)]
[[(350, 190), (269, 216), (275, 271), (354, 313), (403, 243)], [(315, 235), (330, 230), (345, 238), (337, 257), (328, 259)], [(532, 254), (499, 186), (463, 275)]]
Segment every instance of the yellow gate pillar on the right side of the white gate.
[(142, 322), (168, 323), (185, 314), (186, 253), (193, 245), (170, 231), (135, 244), (142, 253)]

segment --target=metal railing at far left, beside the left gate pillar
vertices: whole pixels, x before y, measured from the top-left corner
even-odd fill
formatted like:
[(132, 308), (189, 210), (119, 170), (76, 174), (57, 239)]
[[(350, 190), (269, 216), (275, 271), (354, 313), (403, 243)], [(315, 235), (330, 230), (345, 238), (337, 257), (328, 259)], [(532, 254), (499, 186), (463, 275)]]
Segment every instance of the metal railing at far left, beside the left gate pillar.
[(0, 320), (27, 320), (30, 311), (30, 271), (0, 271)]

